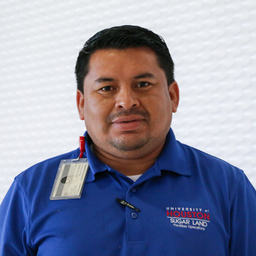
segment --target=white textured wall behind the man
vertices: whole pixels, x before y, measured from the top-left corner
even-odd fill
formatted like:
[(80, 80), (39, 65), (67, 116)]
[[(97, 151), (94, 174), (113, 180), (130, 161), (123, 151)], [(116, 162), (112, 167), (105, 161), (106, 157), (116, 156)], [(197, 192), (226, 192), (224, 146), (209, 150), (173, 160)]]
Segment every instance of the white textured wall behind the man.
[(0, 202), (14, 177), (78, 146), (75, 61), (97, 31), (139, 25), (176, 64), (178, 140), (256, 187), (256, 1), (0, 1)]

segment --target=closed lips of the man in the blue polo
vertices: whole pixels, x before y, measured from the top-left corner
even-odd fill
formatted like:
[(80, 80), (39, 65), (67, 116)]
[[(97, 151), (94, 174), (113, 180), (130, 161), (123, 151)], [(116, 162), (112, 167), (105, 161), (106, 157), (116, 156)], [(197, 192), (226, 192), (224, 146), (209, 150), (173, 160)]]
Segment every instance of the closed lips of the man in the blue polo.
[(122, 116), (112, 121), (113, 126), (119, 131), (134, 131), (140, 128), (145, 119), (138, 115)]

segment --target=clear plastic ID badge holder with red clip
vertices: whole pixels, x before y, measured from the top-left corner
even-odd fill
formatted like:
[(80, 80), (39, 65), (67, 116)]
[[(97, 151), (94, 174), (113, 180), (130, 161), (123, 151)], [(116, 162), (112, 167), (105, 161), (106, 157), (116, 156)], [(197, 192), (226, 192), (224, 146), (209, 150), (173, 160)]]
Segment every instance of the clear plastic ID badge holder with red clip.
[(89, 168), (85, 151), (85, 137), (79, 137), (80, 155), (77, 159), (61, 160), (52, 188), (50, 200), (80, 198)]

